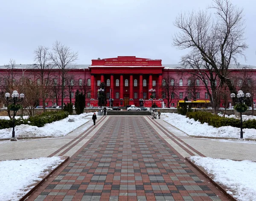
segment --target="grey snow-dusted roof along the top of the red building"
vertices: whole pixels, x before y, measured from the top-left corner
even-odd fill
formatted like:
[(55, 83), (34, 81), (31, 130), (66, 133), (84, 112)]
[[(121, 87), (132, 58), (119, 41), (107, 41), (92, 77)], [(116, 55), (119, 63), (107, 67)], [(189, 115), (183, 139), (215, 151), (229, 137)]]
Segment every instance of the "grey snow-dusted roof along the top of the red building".
[[(15, 64), (14, 68), (15, 69), (32, 69), (35, 68), (36, 64)], [(70, 69), (88, 69), (89, 67), (93, 67), (89, 64), (78, 64), (78, 65), (67, 65), (67, 68)], [(95, 67), (106, 67), (106, 66), (95, 66)], [(108, 67), (115, 67), (115, 66), (108, 66)], [(121, 66), (116, 66), (116, 67), (121, 67)], [(133, 67), (133, 66), (123, 66), (123, 67)], [(134, 66), (134, 67), (140, 67), (140, 66)], [(145, 66), (141, 66), (145, 67)], [(148, 66), (151, 67), (151, 66)], [(155, 66), (152, 66), (155, 67)], [(162, 67), (164, 67), (165, 70), (167, 69), (184, 69), (184, 66), (180, 64), (163, 64)], [(0, 69), (6, 69), (8, 68), (8, 65), (0, 65)], [(53, 67), (54, 69), (58, 69), (57, 66)], [(189, 67), (185, 67), (185, 69), (189, 69)], [(255, 65), (241, 65), (241, 64), (230, 64), (229, 69), (256, 69)]]

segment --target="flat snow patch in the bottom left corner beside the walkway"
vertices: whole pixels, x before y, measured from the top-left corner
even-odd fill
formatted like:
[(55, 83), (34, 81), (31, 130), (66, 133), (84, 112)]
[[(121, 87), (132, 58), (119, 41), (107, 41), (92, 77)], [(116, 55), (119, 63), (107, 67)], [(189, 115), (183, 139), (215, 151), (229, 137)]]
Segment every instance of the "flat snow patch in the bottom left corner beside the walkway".
[(0, 161), (0, 200), (18, 201), (28, 190), (32, 189), (40, 176), (46, 175), (60, 164), (60, 157)]

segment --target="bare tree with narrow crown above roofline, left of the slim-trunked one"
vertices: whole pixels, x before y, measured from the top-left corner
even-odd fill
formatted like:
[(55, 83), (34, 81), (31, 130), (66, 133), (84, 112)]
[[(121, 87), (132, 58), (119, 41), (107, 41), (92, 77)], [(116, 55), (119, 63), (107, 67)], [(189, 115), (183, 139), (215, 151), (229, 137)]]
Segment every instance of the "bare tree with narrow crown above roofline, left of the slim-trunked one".
[(34, 65), (35, 77), (40, 80), (40, 94), (45, 112), (45, 101), (52, 84), (52, 77), (54, 76), (52, 74), (53, 65), (50, 63), (49, 48), (39, 45), (38, 48), (35, 49), (34, 54), (34, 61), (36, 62)]

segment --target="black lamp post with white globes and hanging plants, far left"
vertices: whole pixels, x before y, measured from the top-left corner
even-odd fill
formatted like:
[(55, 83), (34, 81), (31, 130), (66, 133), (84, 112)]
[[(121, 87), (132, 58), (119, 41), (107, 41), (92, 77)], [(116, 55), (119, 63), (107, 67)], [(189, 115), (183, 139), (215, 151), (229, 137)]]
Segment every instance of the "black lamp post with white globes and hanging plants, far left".
[[(15, 115), (17, 110), (21, 109), (22, 106), (17, 104), (17, 102), (21, 102), (23, 101), (23, 98), (25, 97), (25, 95), (23, 93), (18, 93), (17, 91), (13, 91), (12, 92), (12, 98), (10, 98), (10, 93), (6, 93), (6, 101), (8, 102), (8, 107), (10, 108), (10, 110), (13, 111), (13, 126), (12, 126), (12, 138), (11, 141), (17, 141), (17, 138), (15, 138)], [(20, 98), (19, 98), (20, 96)], [(11, 105), (9, 105), (9, 103), (12, 103)]]

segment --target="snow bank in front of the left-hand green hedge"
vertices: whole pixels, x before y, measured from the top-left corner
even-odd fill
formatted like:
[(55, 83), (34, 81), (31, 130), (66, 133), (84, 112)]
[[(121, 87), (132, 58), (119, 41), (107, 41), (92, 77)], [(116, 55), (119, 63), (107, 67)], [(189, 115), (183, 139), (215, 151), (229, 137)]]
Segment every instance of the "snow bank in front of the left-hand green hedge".
[[(93, 113), (82, 113), (80, 115), (69, 115), (67, 118), (57, 122), (44, 125), (44, 127), (19, 125), (15, 126), (15, 137), (61, 137), (70, 133), (77, 127), (87, 123), (90, 119), (86, 119), (88, 115)], [(73, 119), (75, 122), (68, 122), (69, 119)], [(6, 128), (0, 130), (0, 139), (12, 137), (12, 128)]]

